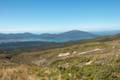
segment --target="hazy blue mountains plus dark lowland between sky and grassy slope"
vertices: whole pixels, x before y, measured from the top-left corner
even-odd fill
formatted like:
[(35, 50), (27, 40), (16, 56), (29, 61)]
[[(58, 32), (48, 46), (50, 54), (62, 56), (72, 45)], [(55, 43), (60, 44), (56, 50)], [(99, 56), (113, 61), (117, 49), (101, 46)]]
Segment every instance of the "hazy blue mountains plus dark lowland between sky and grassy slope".
[(60, 47), (65, 47), (65, 46), (70, 46), (85, 42), (92, 42), (92, 41), (105, 42), (105, 41), (120, 39), (120, 33), (116, 35), (113, 34), (107, 36), (97, 36), (88, 32), (77, 31), (77, 30), (68, 31), (61, 34), (46, 33), (46, 34), (38, 35), (32, 33), (22, 33), (22, 34), (2, 34), (2, 35), (4, 35), (4, 38), (0, 37), (0, 40), (1, 41), (4, 40), (4, 41), (2, 41), (0, 44), (0, 51), (5, 51), (5, 53), (42, 51), (42, 50), (60, 48)]

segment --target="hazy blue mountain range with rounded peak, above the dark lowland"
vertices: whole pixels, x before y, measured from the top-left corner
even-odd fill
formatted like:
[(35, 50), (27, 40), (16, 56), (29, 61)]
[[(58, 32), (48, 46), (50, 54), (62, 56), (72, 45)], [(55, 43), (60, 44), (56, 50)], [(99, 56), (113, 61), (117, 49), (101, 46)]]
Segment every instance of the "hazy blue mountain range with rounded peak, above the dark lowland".
[(72, 30), (60, 34), (33, 34), (33, 33), (16, 33), (16, 34), (0, 34), (0, 42), (21, 42), (21, 41), (47, 41), (47, 42), (67, 42), (83, 39), (95, 38), (97, 35)]

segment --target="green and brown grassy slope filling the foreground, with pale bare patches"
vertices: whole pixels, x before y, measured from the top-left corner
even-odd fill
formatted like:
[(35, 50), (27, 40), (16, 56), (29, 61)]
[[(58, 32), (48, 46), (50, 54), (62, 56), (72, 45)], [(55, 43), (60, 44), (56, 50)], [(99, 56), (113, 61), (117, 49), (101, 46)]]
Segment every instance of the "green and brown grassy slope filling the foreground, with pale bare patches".
[(1, 54), (0, 80), (120, 80), (119, 40), (103, 38), (40, 52)]

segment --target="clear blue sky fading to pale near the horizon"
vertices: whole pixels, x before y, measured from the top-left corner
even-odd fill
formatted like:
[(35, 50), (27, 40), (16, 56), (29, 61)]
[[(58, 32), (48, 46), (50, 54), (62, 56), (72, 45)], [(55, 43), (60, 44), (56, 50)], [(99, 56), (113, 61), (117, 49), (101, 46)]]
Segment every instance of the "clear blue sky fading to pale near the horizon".
[(120, 0), (0, 0), (0, 32), (120, 30)]

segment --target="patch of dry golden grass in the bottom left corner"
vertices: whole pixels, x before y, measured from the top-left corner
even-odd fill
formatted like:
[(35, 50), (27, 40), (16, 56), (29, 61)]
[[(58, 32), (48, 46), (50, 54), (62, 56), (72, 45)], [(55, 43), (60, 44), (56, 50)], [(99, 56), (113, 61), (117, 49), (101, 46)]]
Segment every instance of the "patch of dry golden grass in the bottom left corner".
[(18, 66), (13, 68), (1, 68), (0, 80), (37, 80), (36, 75), (29, 73), (26, 66)]

